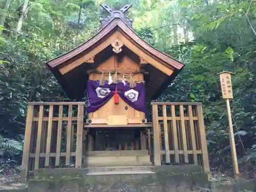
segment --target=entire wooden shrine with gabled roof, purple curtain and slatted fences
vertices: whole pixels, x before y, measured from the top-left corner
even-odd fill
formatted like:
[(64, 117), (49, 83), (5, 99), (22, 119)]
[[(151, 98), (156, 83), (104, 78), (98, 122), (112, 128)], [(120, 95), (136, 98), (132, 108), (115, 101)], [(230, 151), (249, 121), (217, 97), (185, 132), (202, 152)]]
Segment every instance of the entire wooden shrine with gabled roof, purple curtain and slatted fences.
[[(201, 103), (156, 99), (184, 64), (156, 50), (112, 10), (100, 31), (47, 62), (63, 90), (79, 102), (29, 102), (22, 169), (201, 164), (209, 172)], [(154, 142), (152, 140), (154, 139)], [(153, 157), (153, 158), (151, 158)]]

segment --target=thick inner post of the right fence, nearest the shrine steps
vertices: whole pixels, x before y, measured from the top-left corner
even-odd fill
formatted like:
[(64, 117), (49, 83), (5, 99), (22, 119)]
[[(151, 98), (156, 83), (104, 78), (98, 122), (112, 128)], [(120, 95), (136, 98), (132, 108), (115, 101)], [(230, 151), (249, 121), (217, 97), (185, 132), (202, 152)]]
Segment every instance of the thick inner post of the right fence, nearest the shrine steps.
[(158, 109), (157, 105), (152, 105), (152, 120), (153, 120), (153, 134), (154, 134), (154, 164), (155, 166), (161, 165), (161, 153), (160, 153), (160, 130), (158, 125)]

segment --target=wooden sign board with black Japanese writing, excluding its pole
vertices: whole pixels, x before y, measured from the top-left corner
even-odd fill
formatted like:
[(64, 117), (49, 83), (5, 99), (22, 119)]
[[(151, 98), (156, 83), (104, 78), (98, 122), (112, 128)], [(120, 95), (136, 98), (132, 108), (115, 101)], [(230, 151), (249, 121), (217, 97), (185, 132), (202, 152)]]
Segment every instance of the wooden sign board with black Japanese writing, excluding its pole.
[(220, 81), (221, 81), (221, 92), (223, 99), (232, 99), (233, 91), (232, 91), (232, 83), (231, 83), (231, 73), (230, 72), (222, 72), (219, 73)]

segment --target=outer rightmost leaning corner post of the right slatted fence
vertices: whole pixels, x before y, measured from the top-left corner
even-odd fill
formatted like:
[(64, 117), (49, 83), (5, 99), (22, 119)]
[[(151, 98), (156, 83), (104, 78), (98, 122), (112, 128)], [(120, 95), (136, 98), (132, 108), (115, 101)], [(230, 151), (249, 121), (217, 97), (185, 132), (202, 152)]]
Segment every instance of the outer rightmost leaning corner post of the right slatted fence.
[(199, 121), (199, 134), (202, 146), (203, 169), (205, 173), (210, 173), (202, 105), (197, 105), (197, 114)]

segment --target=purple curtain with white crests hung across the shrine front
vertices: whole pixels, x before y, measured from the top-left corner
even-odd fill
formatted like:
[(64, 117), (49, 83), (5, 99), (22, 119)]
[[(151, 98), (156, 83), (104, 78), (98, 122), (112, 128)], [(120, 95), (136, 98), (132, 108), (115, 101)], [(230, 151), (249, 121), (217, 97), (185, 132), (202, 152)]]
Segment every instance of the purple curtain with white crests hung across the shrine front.
[[(111, 97), (114, 96), (114, 92), (117, 86), (117, 91), (119, 96), (132, 108), (146, 113), (146, 104), (145, 104), (145, 86), (144, 83), (136, 83), (136, 87), (133, 90), (139, 93), (138, 99), (132, 102), (129, 98), (127, 98), (124, 93), (126, 91), (131, 90), (130, 84), (126, 82), (126, 86), (122, 82), (118, 82), (117, 84), (108, 84), (108, 81), (105, 81), (105, 85), (100, 87), (98, 80), (89, 80), (87, 83), (87, 93), (88, 93), (88, 108), (87, 112), (92, 113), (97, 111), (101, 106), (103, 106), (106, 102), (108, 102)], [(103, 98), (98, 97), (96, 89), (110, 89), (110, 93)]]

